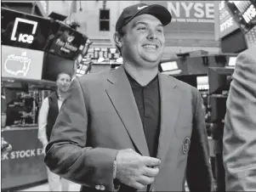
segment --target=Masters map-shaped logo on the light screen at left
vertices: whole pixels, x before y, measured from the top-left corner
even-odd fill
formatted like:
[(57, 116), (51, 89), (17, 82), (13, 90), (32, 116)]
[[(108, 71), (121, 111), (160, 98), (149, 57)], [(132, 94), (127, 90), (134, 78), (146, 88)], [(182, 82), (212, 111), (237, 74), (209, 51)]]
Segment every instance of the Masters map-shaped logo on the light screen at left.
[(4, 70), (13, 76), (26, 76), (30, 64), (31, 59), (27, 58), (26, 51), (21, 55), (9, 54), (4, 62)]

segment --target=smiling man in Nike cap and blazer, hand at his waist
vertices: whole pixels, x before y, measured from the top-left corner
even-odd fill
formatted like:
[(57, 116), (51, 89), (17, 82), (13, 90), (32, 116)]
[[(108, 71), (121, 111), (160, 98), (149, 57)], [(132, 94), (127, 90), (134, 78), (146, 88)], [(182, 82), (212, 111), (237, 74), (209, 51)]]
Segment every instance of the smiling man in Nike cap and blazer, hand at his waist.
[(82, 191), (185, 191), (185, 180), (191, 192), (213, 189), (201, 95), (158, 71), (171, 19), (157, 4), (124, 8), (122, 66), (71, 83), (45, 162)]

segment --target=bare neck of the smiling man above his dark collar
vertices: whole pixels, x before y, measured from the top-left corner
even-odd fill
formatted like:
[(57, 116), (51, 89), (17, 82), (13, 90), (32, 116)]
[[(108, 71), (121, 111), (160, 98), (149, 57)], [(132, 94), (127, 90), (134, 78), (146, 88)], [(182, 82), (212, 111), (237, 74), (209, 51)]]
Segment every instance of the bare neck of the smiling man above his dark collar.
[(143, 69), (140, 67), (135, 67), (134, 65), (130, 65), (127, 62), (123, 63), (123, 67), (125, 71), (127, 71), (128, 74), (132, 76), (134, 80), (141, 86), (145, 86), (151, 82), (158, 73), (158, 68)]

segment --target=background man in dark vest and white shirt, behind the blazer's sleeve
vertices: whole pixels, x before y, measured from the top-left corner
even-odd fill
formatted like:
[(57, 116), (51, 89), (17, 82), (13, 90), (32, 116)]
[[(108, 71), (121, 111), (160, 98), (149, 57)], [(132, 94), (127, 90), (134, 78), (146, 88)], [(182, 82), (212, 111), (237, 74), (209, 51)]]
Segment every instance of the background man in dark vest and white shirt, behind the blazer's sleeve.
[[(71, 75), (61, 72), (57, 76), (57, 91), (50, 93), (47, 98), (43, 100), (38, 116), (38, 138), (43, 144), (43, 151), (48, 144), (54, 123), (59, 114), (60, 107), (65, 99), (65, 95), (71, 85)], [(68, 191), (69, 182), (64, 178), (54, 174), (49, 169), (48, 184), (51, 191)]]

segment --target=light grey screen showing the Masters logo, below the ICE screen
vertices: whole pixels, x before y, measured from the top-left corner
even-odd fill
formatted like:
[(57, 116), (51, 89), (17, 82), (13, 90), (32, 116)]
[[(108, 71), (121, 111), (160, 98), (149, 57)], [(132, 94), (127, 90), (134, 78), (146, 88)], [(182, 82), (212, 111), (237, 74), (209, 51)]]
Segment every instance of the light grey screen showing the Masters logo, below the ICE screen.
[(2, 45), (2, 76), (41, 80), (43, 51)]

